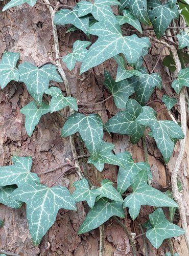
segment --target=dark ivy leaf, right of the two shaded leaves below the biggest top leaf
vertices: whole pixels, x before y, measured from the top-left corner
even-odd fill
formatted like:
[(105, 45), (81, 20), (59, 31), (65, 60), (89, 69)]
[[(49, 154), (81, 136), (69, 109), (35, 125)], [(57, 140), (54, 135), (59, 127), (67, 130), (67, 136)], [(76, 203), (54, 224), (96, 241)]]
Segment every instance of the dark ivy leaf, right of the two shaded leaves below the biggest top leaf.
[(162, 79), (158, 73), (148, 74), (146, 69), (142, 69), (143, 77), (133, 77), (136, 100), (144, 105), (153, 93), (154, 87), (161, 90)]

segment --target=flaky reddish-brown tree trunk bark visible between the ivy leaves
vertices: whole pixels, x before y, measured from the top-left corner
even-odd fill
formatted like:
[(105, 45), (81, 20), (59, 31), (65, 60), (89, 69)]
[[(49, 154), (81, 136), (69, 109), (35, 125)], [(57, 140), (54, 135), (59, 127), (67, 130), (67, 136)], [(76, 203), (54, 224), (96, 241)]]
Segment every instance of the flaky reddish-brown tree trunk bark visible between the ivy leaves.
[[(66, 1), (64, 1), (64, 4)], [(69, 5), (75, 5), (74, 0), (69, 0)], [(1, 2), (1, 10), (4, 4)], [(1, 11), (0, 23), (0, 40), (1, 53), (4, 51), (19, 52), (21, 62), (29, 61), (34, 65), (41, 65), (49, 58), (55, 58), (54, 38), (52, 33), (51, 16), (45, 5), (36, 4), (30, 7), (27, 4), (11, 8), (6, 12)], [(72, 51), (75, 40), (87, 40), (86, 36), (79, 31), (65, 33), (68, 26), (58, 26), (59, 45), (61, 56)], [(154, 47), (154, 53), (159, 52)], [(151, 71), (156, 63), (157, 57), (148, 55), (146, 62)], [(109, 93), (103, 86), (103, 72), (107, 69), (115, 76), (115, 62), (109, 60), (102, 65), (90, 69), (88, 72), (79, 76), (79, 63), (72, 72), (68, 72), (65, 64), (62, 67), (66, 72), (72, 95), (83, 103), (95, 103), (109, 96)], [(169, 80), (169, 71), (166, 70), (162, 62), (159, 61), (156, 71), (160, 73), (163, 82)], [(53, 84), (53, 82), (51, 82)], [(64, 92), (64, 84), (59, 83), (60, 89)], [(164, 92), (168, 96), (177, 97), (171, 89), (170, 83), (163, 86)], [(159, 99), (162, 91), (155, 91), (151, 99)], [(11, 164), (11, 155), (32, 156), (33, 165), (32, 172), (43, 173), (60, 166), (66, 161), (66, 158), (72, 159), (72, 151), (70, 150), (69, 138), (61, 138), (61, 127), (63, 119), (57, 113), (44, 115), (35, 132), (28, 137), (25, 131), (25, 116), (19, 110), (31, 101), (23, 83), (11, 82), (8, 86), (0, 91), (0, 165)], [(153, 103), (155, 110), (161, 108), (158, 102)], [(85, 113), (99, 113), (105, 123), (108, 118), (117, 113), (117, 109), (112, 98), (105, 103), (97, 104), (94, 107), (82, 107)], [(179, 107), (174, 109), (172, 113), (179, 120)], [(166, 110), (158, 112), (158, 118), (170, 120), (170, 116)], [(187, 133), (188, 136), (188, 133)], [(129, 151), (134, 161), (144, 161), (143, 142), (140, 140), (136, 145), (130, 143), (128, 136), (106, 134), (105, 139), (115, 144), (115, 153), (121, 151)], [(78, 155), (80, 155), (77, 146), (77, 136), (75, 136)], [(164, 165), (162, 156), (158, 151), (155, 141), (147, 138), (148, 157), (151, 166), (153, 181), (155, 188), (165, 191), (170, 185), (171, 172), (175, 165), (178, 155), (179, 142), (175, 146), (173, 156), (168, 165)], [(185, 154), (180, 167), (179, 179), (183, 185), (183, 202), (186, 208), (186, 214), (189, 215), (189, 196), (188, 196), (188, 168), (189, 168), (189, 140), (186, 138)], [(117, 167), (113, 165), (105, 165), (102, 173), (88, 166), (89, 179), (96, 185), (102, 178), (110, 179), (116, 183)], [(55, 172), (40, 175), (43, 184), (50, 186), (53, 184), (61, 172), (66, 167), (59, 168)], [(62, 184), (73, 191), (72, 184), (78, 179), (76, 173), (65, 174), (63, 178), (56, 184)], [(130, 219), (127, 209), (125, 209), (126, 218), (122, 220), (124, 225), (130, 230), (130, 233), (143, 233), (141, 224), (148, 220), (149, 214), (153, 211), (153, 207), (141, 207), (140, 215), (134, 222)], [(1, 249), (17, 253), (19, 255), (75, 255), (75, 256), (96, 256), (99, 255), (99, 229), (78, 236), (77, 231), (83, 222), (88, 207), (85, 202), (78, 203), (78, 210), (68, 211), (59, 210), (56, 223), (52, 226), (48, 233), (42, 239), (39, 246), (32, 244), (31, 236), (28, 229), (26, 219), (26, 206), (20, 209), (11, 209), (5, 205), (1, 205), (0, 219), (3, 219), (5, 225), (0, 228)], [(188, 220), (189, 221), (189, 220)], [(175, 224), (180, 225), (179, 215), (175, 217)], [(122, 227), (110, 219), (104, 224), (105, 232), (105, 255), (133, 255), (132, 247), (128, 237)], [(148, 248), (148, 253), (146, 252)], [(187, 254), (187, 247), (184, 237), (171, 239), (174, 251), (181, 255)], [(153, 248), (145, 236), (140, 236), (136, 240), (137, 255), (164, 255), (166, 251), (170, 251), (170, 245), (166, 240), (159, 249)]]

